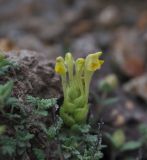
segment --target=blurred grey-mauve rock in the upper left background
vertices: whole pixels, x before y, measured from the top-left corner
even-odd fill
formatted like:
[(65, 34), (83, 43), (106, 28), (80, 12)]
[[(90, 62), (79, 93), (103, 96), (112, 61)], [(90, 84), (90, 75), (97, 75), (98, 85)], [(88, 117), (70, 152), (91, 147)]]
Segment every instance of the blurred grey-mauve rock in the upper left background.
[(53, 15), (52, 18), (30, 17), (22, 22), (22, 30), (32, 33), (43, 41), (58, 40), (65, 31), (63, 19)]

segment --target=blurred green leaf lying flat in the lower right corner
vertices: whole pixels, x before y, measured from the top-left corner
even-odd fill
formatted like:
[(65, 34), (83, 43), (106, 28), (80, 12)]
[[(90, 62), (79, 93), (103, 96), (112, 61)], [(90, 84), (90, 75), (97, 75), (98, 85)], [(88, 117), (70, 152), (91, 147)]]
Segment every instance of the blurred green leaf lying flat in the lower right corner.
[(122, 148), (121, 151), (130, 151), (130, 150), (135, 150), (140, 148), (142, 145), (142, 143), (140, 141), (130, 141), (125, 143)]

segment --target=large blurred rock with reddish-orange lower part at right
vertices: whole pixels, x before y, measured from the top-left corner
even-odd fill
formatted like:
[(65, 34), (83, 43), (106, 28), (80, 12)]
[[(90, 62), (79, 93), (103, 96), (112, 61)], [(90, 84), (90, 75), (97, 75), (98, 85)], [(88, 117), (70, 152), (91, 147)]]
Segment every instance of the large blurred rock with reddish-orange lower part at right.
[(127, 76), (144, 73), (147, 59), (145, 41), (137, 29), (119, 29), (112, 48), (114, 62)]

